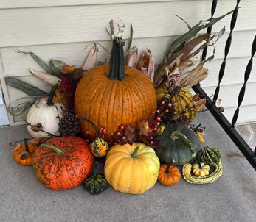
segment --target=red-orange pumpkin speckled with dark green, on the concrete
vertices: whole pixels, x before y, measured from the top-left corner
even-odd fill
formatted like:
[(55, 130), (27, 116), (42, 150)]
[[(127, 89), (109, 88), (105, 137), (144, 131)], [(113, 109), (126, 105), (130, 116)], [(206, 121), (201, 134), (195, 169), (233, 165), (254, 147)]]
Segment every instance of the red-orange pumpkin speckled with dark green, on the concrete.
[(66, 136), (46, 140), (35, 151), (35, 176), (52, 190), (68, 190), (80, 185), (89, 173), (94, 156), (80, 137)]

